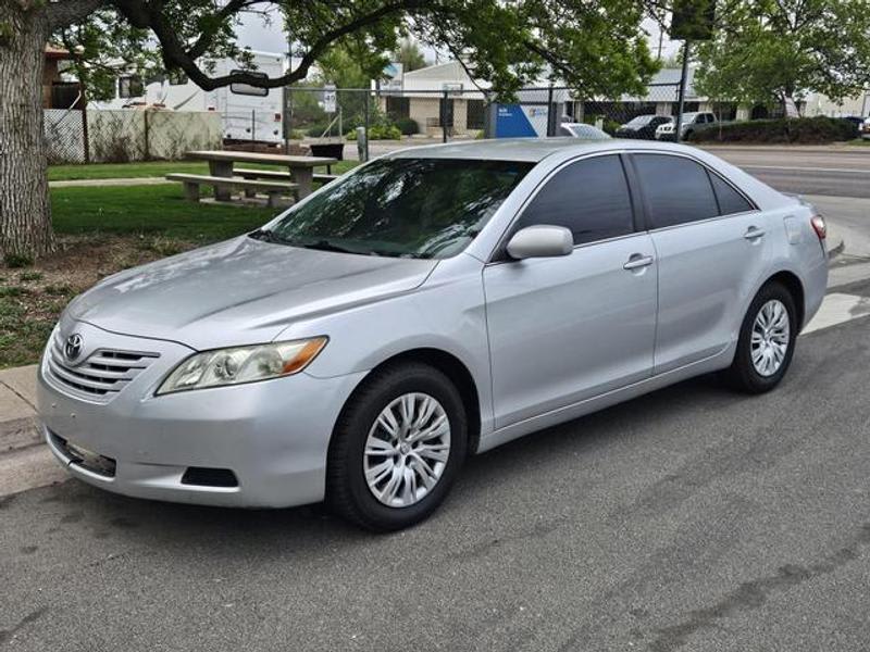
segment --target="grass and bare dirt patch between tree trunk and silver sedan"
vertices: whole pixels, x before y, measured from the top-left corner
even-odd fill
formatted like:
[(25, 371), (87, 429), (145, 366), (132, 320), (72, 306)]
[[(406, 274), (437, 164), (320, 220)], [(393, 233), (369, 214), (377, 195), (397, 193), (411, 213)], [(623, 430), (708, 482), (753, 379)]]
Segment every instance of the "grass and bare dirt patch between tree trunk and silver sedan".
[[(77, 167), (132, 176), (169, 164), (157, 165)], [(0, 368), (37, 362), (66, 303), (104, 276), (253, 230), (281, 211), (195, 203), (181, 184), (53, 188), (51, 210), (58, 252), (24, 268), (0, 263)]]

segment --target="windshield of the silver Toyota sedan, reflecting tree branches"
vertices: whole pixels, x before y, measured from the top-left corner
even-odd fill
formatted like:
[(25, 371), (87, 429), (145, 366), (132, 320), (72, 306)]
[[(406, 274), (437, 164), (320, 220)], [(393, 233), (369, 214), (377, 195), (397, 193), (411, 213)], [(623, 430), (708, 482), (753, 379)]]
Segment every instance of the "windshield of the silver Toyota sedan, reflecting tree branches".
[(449, 258), (468, 247), (532, 165), (381, 159), (251, 235), (346, 253)]

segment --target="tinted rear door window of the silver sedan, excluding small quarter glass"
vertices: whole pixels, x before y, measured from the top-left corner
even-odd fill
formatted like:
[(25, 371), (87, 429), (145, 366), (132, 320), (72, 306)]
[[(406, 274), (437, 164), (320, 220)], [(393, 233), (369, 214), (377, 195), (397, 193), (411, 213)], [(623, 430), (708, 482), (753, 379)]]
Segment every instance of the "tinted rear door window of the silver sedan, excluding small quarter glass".
[(708, 220), (719, 215), (710, 178), (683, 156), (634, 154), (649, 211), (650, 228)]

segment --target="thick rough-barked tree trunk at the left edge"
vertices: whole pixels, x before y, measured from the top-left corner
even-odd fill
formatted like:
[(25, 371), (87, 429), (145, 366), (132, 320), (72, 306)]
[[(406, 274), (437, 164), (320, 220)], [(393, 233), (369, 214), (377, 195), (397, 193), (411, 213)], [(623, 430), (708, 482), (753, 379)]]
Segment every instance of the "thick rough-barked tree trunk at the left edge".
[(54, 246), (42, 133), (45, 4), (0, 0), (0, 254), (7, 260)]

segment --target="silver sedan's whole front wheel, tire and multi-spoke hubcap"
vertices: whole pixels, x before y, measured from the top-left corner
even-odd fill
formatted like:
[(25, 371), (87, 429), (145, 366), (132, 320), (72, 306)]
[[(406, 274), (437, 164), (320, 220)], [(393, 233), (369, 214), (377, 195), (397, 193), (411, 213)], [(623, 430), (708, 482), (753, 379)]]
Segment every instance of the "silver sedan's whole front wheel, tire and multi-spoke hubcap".
[(336, 424), (327, 502), (369, 529), (413, 525), (447, 496), (467, 440), (462, 399), (442, 372), (417, 362), (377, 371)]

